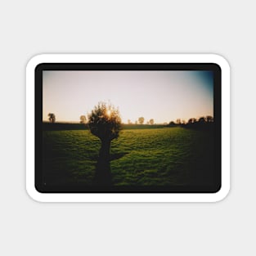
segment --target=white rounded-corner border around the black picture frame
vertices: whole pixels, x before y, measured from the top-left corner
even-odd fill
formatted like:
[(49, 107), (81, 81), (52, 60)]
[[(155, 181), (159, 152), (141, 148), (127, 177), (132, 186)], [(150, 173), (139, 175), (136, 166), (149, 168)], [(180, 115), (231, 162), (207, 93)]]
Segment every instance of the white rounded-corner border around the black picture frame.
[[(34, 186), (34, 70), (40, 63), (216, 63), (222, 69), (222, 188), (217, 193), (40, 193)], [(26, 189), (39, 202), (216, 202), (230, 190), (230, 67), (216, 54), (42, 54), (26, 67)]]

